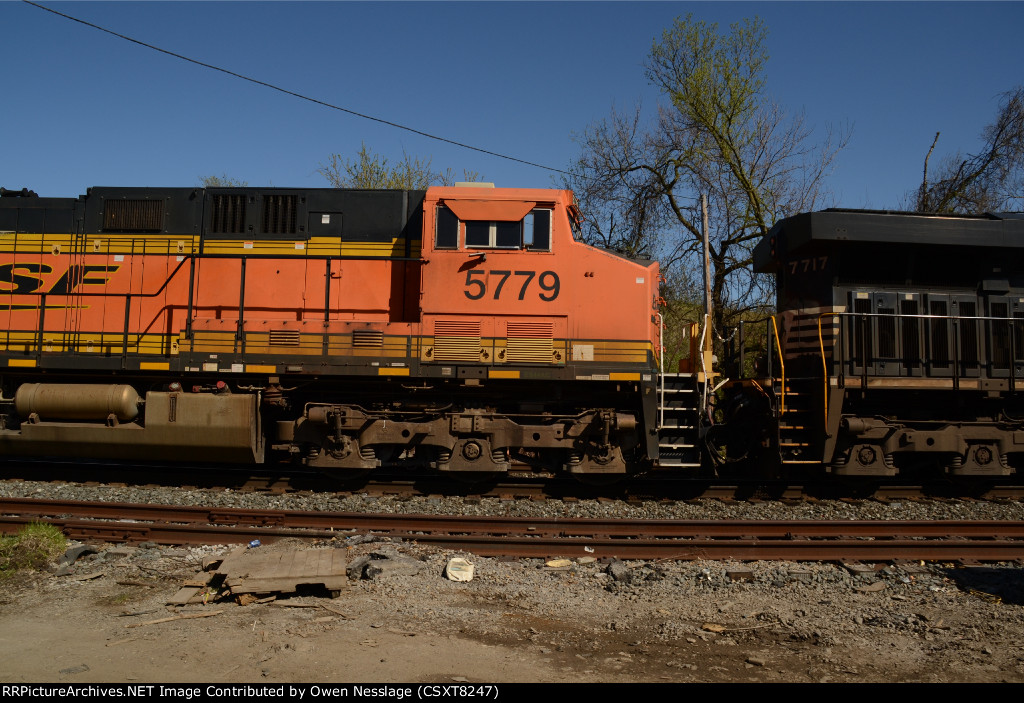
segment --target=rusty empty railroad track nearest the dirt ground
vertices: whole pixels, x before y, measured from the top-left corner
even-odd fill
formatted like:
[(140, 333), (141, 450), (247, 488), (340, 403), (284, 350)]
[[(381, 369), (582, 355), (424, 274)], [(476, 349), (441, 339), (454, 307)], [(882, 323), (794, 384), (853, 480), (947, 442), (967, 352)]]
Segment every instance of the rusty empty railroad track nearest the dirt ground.
[(373, 533), (484, 557), (1024, 561), (1024, 522), (677, 521), (253, 511), (8, 498), (0, 530), (48, 522), (84, 541), (239, 543)]

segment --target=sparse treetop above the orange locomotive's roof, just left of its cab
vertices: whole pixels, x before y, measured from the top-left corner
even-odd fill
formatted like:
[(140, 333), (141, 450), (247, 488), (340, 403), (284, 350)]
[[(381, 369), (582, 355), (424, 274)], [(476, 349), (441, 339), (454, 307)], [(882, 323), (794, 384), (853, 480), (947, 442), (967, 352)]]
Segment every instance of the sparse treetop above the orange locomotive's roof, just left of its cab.
[[(426, 161), (419, 157), (411, 157), (402, 151), (402, 160), (396, 165), (389, 165), (388, 160), (364, 143), (354, 160), (345, 159), (339, 153), (332, 153), (325, 164), (316, 169), (317, 173), (327, 178), (335, 188), (396, 188), (404, 190), (422, 190), (430, 185), (454, 185), (455, 173), (451, 168), (435, 173), (430, 170), (432, 159)], [(465, 181), (480, 179), (479, 174), (472, 171), (464, 172)]]

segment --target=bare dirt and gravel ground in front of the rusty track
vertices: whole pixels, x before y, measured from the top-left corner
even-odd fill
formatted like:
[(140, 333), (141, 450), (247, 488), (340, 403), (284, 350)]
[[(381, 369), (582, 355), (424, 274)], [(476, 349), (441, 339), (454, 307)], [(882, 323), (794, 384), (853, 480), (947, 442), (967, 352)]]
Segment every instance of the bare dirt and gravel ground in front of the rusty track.
[[(102, 545), (0, 592), (3, 683), (1022, 682), (1024, 569), (572, 563), (343, 548), (355, 578), (168, 607), (230, 547)], [(364, 557), (364, 560), (359, 560)], [(153, 622), (179, 615), (200, 615)]]

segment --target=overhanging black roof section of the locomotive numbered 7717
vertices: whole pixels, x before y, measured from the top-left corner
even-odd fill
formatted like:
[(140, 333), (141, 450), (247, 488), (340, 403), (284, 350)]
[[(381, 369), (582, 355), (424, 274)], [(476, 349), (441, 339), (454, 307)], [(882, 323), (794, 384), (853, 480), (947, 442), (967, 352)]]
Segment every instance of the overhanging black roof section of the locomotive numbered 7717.
[(754, 249), (754, 268), (774, 272), (772, 239), (782, 259), (815, 243), (1024, 248), (1024, 213), (931, 215), (831, 208), (779, 220)]

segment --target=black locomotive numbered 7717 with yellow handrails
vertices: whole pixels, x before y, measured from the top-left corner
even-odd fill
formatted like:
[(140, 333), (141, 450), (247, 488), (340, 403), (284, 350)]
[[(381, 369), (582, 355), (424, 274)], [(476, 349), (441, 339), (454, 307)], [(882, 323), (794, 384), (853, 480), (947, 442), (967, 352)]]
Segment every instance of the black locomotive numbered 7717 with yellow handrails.
[(777, 312), (767, 378), (729, 391), (732, 457), (840, 476), (1024, 467), (1024, 216), (801, 214), (755, 268)]

